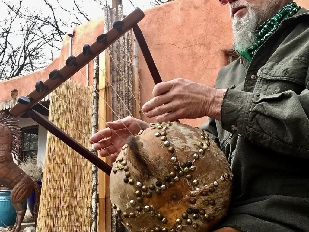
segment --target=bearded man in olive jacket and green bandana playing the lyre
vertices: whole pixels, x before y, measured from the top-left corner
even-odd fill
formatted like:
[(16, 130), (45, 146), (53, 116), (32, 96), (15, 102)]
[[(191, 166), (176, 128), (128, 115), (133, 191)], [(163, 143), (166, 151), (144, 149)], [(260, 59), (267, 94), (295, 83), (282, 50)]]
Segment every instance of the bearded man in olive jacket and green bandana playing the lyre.
[[(309, 231), (309, 11), (287, 0), (228, 2), (239, 59), (214, 88), (187, 79), (156, 85), (142, 110), (159, 122), (209, 117), (200, 128), (234, 174), (218, 231)], [(125, 138), (149, 124), (128, 117), (108, 127), (91, 141), (114, 159), (124, 143), (114, 130)]]

